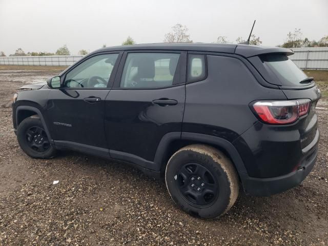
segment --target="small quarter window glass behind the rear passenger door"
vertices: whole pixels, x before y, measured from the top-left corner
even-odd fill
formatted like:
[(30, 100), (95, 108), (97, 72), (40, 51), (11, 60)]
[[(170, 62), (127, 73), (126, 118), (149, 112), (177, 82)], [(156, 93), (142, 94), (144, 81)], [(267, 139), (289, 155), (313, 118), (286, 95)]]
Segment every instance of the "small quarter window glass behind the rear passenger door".
[(188, 81), (198, 81), (206, 76), (204, 55), (188, 55)]

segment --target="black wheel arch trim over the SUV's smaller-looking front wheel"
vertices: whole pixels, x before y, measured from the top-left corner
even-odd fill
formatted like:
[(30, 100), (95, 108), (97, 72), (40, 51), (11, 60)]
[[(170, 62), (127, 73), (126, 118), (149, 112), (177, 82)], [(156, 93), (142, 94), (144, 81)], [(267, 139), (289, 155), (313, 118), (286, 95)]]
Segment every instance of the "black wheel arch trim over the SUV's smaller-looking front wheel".
[(24, 119), (26, 119), (28, 117), (31, 117), (31, 116), (34, 116), (34, 115), (35, 115), (35, 117), (38, 117), (41, 120), (42, 125), (44, 126), (45, 131), (46, 131), (50, 141), (52, 142), (52, 138), (51, 138), (50, 132), (48, 130), (46, 121), (45, 121), (41, 111), (39, 109), (37, 109), (36, 107), (33, 107), (33, 106), (18, 106), (16, 108), (16, 113), (15, 113), (16, 128), (18, 128), (20, 122), (22, 122)]

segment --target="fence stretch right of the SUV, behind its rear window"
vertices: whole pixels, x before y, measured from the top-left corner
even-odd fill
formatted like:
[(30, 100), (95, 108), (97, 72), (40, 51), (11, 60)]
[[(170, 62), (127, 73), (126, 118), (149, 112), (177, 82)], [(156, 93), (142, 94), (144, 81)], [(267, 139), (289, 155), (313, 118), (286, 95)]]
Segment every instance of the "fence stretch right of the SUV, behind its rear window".
[(289, 56), (300, 69), (328, 70), (328, 47), (293, 48)]

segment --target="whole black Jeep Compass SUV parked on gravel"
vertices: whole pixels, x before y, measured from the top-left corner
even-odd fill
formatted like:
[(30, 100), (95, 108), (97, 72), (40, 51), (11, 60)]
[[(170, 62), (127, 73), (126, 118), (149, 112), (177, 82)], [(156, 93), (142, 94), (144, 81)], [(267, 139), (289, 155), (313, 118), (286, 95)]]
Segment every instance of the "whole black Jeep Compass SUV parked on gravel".
[(186, 212), (213, 218), (245, 193), (297, 186), (318, 153), (320, 90), (289, 49), (148, 44), (97, 50), (14, 95), (34, 158), (72, 149), (165, 176)]

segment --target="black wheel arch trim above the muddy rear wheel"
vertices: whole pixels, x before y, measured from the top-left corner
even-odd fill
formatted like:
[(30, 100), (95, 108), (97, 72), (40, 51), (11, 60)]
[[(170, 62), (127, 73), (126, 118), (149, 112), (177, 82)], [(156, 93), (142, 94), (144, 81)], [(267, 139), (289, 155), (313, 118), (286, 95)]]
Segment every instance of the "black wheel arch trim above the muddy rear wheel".
[(177, 150), (192, 144), (209, 145), (222, 151), (232, 160), (239, 177), (241, 173), (247, 173), (238, 151), (231, 142), (220, 137), (191, 132), (171, 132), (162, 137), (155, 154), (155, 169), (163, 174), (169, 158)]

